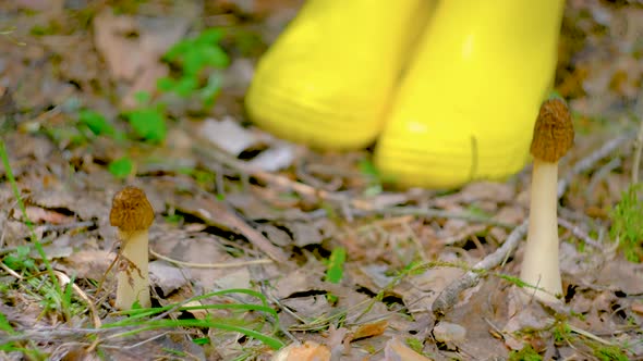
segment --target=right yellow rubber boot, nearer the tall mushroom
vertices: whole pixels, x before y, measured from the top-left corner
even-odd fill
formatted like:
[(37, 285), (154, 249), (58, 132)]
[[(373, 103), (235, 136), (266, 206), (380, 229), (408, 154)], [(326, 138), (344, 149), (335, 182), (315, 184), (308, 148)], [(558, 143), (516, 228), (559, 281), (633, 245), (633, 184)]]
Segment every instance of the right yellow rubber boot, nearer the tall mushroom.
[(440, 1), (376, 149), (385, 178), (452, 188), (520, 171), (554, 78), (563, 7)]

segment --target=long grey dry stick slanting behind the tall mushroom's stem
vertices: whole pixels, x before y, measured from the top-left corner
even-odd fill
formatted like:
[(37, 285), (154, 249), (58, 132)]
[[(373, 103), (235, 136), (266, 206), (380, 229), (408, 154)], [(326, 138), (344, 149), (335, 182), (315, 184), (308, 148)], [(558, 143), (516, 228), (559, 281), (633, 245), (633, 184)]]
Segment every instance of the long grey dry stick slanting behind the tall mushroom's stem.
[[(598, 150), (578, 162), (571, 169), (567, 177), (558, 182), (558, 199), (562, 197), (562, 195), (569, 187), (571, 179), (574, 176), (586, 171), (590, 171), (599, 160), (609, 155), (612, 151), (618, 149), (626, 140), (629, 140), (631, 136), (629, 135), (614, 138), (605, 145), (603, 145), (603, 147), (600, 147)], [(518, 242), (525, 235), (527, 224), (527, 220), (523, 221), (521, 225), (513, 228), (513, 231), (511, 232), (511, 234), (509, 234), (509, 237), (502, 244), (502, 246), (500, 246), (489, 256), (485, 257), (482, 261), (477, 262), (471, 271), (468, 271), (456, 282), (447, 286), (433, 302), (432, 311), (437, 315), (445, 314), (445, 312), (448, 309), (450, 309), (451, 307), (453, 307), (453, 304), (457, 303), (458, 299), (460, 298), (460, 294), (463, 290), (477, 285), (482, 273), (499, 265), (500, 263), (502, 263), (504, 260), (508, 259), (511, 252), (513, 252), (513, 250), (518, 246)]]

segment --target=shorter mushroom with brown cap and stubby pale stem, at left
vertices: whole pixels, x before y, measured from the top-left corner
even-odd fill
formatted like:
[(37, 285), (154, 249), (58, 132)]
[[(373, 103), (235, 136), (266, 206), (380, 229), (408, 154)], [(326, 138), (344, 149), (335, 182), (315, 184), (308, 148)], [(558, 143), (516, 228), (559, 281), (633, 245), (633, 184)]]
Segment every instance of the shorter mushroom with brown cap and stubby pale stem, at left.
[(125, 187), (114, 195), (109, 223), (118, 227), (121, 241), (121, 265), (117, 272), (117, 300), (119, 310), (150, 307), (148, 276), (148, 229), (154, 221), (154, 209), (145, 192)]

